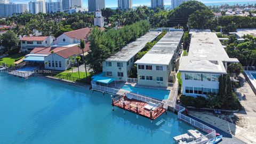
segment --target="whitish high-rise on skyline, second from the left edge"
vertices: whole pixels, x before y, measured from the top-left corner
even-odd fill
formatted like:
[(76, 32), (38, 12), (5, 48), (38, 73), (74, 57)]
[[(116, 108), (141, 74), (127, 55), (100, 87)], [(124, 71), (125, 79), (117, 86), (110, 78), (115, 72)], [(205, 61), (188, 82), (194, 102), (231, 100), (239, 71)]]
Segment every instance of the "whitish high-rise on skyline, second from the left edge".
[(35, 2), (29, 2), (29, 13), (37, 14), (39, 12), (46, 13), (46, 2), (45, 0), (36, 0)]

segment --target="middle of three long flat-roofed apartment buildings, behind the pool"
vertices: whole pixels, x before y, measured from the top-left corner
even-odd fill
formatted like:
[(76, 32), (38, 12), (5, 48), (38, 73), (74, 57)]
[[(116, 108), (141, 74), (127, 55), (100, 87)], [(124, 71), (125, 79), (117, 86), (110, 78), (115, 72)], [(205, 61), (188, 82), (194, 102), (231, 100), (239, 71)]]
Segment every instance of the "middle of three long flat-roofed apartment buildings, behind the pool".
[(181, 48), (183, 31), (169, 31), (140, 60), (137, 60), (139, 85), (167, 87)]

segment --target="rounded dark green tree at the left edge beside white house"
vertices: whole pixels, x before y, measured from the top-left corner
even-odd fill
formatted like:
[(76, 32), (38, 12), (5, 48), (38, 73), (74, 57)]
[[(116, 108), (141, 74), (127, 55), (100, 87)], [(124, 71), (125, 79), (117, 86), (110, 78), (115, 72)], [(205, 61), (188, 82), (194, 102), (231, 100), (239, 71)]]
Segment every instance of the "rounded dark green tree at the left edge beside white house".
[(2, 41), (2, 46), (9, 50), (14, 46), (18, 46), (19, 38), (17, 37), (17, 34), (11, 30), (8, 30), (0, 38)]

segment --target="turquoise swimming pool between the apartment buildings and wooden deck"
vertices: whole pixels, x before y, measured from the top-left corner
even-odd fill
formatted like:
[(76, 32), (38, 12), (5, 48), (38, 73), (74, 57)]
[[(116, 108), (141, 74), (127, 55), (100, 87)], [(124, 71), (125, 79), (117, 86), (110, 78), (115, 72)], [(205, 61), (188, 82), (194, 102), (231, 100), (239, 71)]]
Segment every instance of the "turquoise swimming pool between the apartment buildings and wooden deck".
[(124, 85), (121, 89), (130, 91), (132, 93), (137, 93), (141, 95), (146, 95), (151, 98), (158, 100), (166, 100), (169, 97), (169, 90), (157, 90), (157, 89), (145, 89), (139, 87), (133, 87), (132, 85)]

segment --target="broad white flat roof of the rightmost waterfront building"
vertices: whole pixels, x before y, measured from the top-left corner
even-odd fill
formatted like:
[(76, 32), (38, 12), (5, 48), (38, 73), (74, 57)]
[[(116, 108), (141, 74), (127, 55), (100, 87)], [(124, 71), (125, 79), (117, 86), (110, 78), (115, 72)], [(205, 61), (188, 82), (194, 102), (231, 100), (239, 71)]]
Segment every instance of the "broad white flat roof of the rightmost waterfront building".
[(228, 57), (215, 33), (192, 32), (187, 57), (182, 57), (179, 71), (227, 74), (223, 62), (239, 62)]

